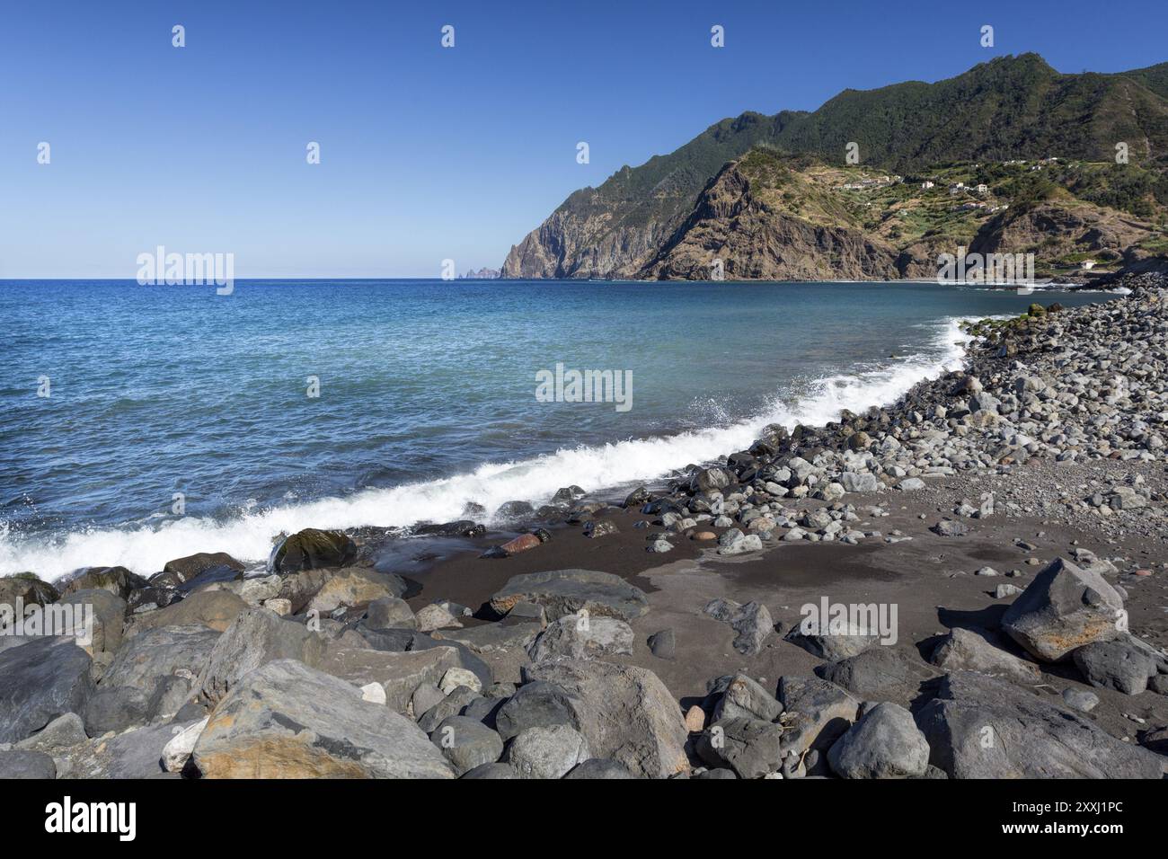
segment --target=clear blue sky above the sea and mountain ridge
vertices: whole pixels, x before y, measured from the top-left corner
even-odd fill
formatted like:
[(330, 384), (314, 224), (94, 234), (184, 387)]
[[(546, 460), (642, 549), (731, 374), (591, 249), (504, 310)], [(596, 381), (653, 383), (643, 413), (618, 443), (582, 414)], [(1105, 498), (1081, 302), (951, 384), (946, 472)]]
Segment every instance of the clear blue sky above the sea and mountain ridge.
[(498, 268), (571, 190), (722, 117), (1027, 50), (1139, 68), (1166, 30), (1163, 0), (9, 2), (0, 279), (132, 278), (158, 244), (237, 277)]

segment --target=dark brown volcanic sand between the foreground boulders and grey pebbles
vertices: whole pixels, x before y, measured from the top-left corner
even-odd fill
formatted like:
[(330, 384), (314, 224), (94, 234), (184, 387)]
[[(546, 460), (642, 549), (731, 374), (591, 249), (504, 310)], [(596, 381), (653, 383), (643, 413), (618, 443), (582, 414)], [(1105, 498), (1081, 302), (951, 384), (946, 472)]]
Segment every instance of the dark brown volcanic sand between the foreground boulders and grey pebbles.
[[(1073, 473), (1066, 470), (1068, 477), (1079, 478), (1078, 472), (1091, 466), (1073, 467)], [(1018, 479), (1030, 478), (1023, 472)], [(378, 567), (419, 583), (420, 591), (410, 598), (415, 610), (436, 600), (453, 600), (478, 611), (508, 579), (522, 573), (566, 568), (614, 573), (648, 595), (651, 610), (632, 622), (637, 633), (635, 652), (613, 660), (654, 671), (686, 705), (703, 695), (707, 681), (721, 674), (742, 671), (773, 691), (781, 676), (807, 674), (820, 664), (816, 657), (783, 640), (781, 635), (773, 635), (753, 657), (737, 653), (731, 647), (734, 632), (730, 626), (702, 614), (702, 608), (714, 597), (764, 603), (780, 632), (799, 623), (801, 605), (819, 603), (823, 596), (839, 603), (895, 603), (897, 646), (915, 647), (927, 659), (939, 637), (954, 626), (996, 625), (1013, 600), (994, 598), (993, 591), (999, 583), (1010, 582), (1026, 588), (1042, 564), (1058, 555), (1069, 556), (1075, 545), (1100, 557), (1115, 559), (1120, 575), (1112, 581), (1128, 593), (1131, 629), (1160, 647), (1168, 645), (1166, 535), (1154, 539), (1132, 535), (1108, 541), (1101, 529), (1091, 533), (1038, 517), (1007, 515), (964, 520), (971, 526), (971, 533), (960, 538), (941, 538), (927, 531), (941, 518), (939, 510), (951, 514), (953, 504), (983, 489), (979, 485), (982, 480), (994, 480), (995, 489), (1001, 484), (1000, 478), (941, 478), (931, 482), (929, 491), (918, 493), (847, 496), (844, 500), (855, 504), (857, 512), (868, 505), (884, 504), (890, 513), (875, 519), (861, 515), (861, 521), (855, 524), (857, 527), (880, 529), (885, 535), (899, 529), (912, 536), (911, 541), (891, 545), (880, 539), (869, 539), (858, 546), (777, 543), (763, 553), (721, 557), (715, 552), (715, 543), (673, 535), (674, 550), (655, 554), (646, 550), (648, 535), (662, 531), (651, 524), (653, 517), (613, 510), (603, 518), (616, 522), (619, 534), (589, 539), (579, 526), (562, 526), (552, 531), (550, 541), (509, 559), (480, 559), (479, 555), (512, 534), (489, 534), (480, 540), (409, 540), (404, 543), (404, 554), (398, 548), (394, 556), (383, 556)], [(806, 501), (798, 506), (814, 508), (820, 505)], [(634, 527), (638, 521), (648, 527)], [(707, 525), (700, 525), (700, 529)], [(1037, 548), (1026, 552), (1014, 545), (1016, 539)], [(1037, 563), (1028, 563), (1030, 559)], [(994, 567), (1003, 575), (973, 575), (983, 566)], [(1150, 568), (1153, 574), (1147, 577), (1131, 575), (1138, 567)], [(1020, 576), (1004, 575), (1015, 569), (1021, 571)], [(482, 622), (486, 621), (468, 619), (467, 625)], [(673, 660), (654, 657), (646, 644), (649, 635), (666, 628), (673, 628), (676, 636), (676, 658)], [(520, 666), (526, 661), (520, 649), (484, 658), (492, 664), (496, 679), (512, 681), (519, 679)], [(1044, 666), (1044, 672), (1045, 683), (1038, 687), (1040, 692), (1057, 695), (1069, 685), (1086, 688), (1073, 667)], [(1145, 727), (1168, 723), (1168, 698), (1163, 695), (1145, 692), (1128, 697), (1107, 690), (1092, 691), (1099, 695), (1100, 704), (1089, 718), (1117, 736), (1134, 739)], [(1147, 723), (1140, 725), (1129, 715), (1145, 719)]]

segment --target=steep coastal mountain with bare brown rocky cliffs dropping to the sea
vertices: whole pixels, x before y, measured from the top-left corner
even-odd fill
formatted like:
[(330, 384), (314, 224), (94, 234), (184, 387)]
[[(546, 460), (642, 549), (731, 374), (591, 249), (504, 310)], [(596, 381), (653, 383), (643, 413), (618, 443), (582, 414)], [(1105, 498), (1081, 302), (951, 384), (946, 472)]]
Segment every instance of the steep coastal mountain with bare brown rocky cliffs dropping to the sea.
[[(1163, 256), (1168, 169), (1156, 153), (1168, 151), (1164, 79), (1168, 64), (1061, 75), (1029, 54), (936, 84), (848, 90), (814, 113), (745, 113), (710, 126), (676, 152), (623, 167), (599, 188), (577, 190), (512, 248), (501, 276), (709, 279), (711, 264), (722, 259), (726, 278), (933, 277), (938, 254), (962, 244), (982, 252), (1038, 249), (1064, 269), (1073, 268), (1069, 257), (1089, 251), (1125, 264)], [(941, 200), (857, 201), (847, 179), (834, 186), (843, 190), (832, 200), (822, 186), (778, 187), (774, 176), (735, 166), (762, 148), (843, 168), (850, 140), (861, 147), (861, 165), (853, 169), (911, 171), (919, 174), (912, 182), (936, 179), (931, 194)], [(1064, 176), (1083, 200), (1047, 208), (1027, 203), (1024, 217), (1002, 209), (1052, 169), (1013, 178), (971, 173), (978, 183), (1002, 180), (990, 194), (999, 195), (990, 201), (996, 205), (978, 208), (971, 203), (985, 193), (969, 198), (969, 188), (944, 206), (943, 182), (953, 176), (941, 179), (940, 168), (930, 167), (966, 162), (981, 169), (985, 160), (1001, 169), (1014, 159), (1031, 159), (1036, 166), (1027, 169), (1041, 171), (1052, 162), (1038, 159), (1059, 155), (1114, 168), (1117, 140), (1129, 141), (1132, 172), (1142, 186), (1126, 175), (1100, 179), (1098, 172), (1090, 178), (1101, 182), (1098, 187)], [(1141, 217), (1114, 210), (1136, 198), (1140, 207), (1131, 212)], [(1147, 241), (1157, 231), (1160, 238)]]

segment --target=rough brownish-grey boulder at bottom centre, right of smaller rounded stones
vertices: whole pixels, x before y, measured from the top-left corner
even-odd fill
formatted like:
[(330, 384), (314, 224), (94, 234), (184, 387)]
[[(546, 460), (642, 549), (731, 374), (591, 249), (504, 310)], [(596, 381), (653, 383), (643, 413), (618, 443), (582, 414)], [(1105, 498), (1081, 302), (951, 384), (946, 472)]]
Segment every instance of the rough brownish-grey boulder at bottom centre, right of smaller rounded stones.
[(568, 695), (591, 754), (611, 757), (638, 777), (663, 778), (689, 768), (689, 732), (677, 702), (652, 671), (591, 659), (524, 666), (524, 681), (545, 680)]

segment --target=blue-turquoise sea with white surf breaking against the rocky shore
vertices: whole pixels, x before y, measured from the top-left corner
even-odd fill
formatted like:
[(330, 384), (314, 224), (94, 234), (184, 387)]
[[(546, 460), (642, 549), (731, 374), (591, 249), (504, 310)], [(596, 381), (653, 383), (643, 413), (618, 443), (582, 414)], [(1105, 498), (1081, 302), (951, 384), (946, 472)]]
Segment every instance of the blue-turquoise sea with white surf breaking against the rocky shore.
[[(891, 402), (958, 366), (957, 319), (1033, 300), (911, 283), (0, 283), (0, 574), (258, 560), (280, 531), (649, 479), (772, 421)], [(540, 402), (557, 362), (631, 373), (631, 408)]]

